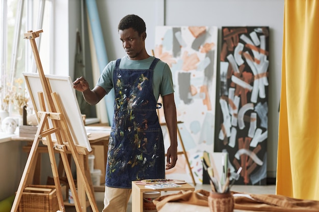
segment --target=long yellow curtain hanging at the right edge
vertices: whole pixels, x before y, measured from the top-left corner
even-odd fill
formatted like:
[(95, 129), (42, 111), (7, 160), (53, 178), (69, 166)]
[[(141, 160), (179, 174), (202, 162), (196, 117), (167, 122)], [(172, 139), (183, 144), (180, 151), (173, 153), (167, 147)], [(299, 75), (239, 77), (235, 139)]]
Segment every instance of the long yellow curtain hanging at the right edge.
[(276, 193), (319, 200), (318, 0), (285, 0)]

